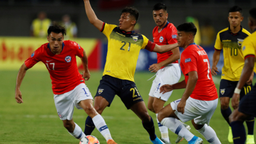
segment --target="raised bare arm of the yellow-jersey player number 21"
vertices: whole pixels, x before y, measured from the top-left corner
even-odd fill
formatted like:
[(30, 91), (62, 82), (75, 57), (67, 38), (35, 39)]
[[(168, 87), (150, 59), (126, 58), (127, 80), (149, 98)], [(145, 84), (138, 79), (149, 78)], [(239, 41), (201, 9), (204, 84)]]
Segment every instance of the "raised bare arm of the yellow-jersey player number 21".
[(84, 7), (85, 7), (86, 15), (87, 15), (90, 23), (92, 23), (92, 25), (94, 27), (96, 27), (97, 29), (101, 30), (102, 25), (103, 25), (103, 21), (101, 21), (97, 18), (96, 14), (92, 10), (92, 7), (91, 7), (91, 4), (90, 4), (89, 0), (84, 0)]

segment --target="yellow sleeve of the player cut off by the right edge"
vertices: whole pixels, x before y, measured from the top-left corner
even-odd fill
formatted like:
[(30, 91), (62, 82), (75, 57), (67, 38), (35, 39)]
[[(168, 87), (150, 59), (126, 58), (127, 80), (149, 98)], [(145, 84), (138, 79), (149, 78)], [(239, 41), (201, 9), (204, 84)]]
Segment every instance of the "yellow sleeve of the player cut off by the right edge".
[(244, 39), (244, 42), (242, 44), (242, 52), (244, 59), (248, 57), (255, 57), (255, 45), (253, 45), (253, 42), (250, 39), (250, 36)]

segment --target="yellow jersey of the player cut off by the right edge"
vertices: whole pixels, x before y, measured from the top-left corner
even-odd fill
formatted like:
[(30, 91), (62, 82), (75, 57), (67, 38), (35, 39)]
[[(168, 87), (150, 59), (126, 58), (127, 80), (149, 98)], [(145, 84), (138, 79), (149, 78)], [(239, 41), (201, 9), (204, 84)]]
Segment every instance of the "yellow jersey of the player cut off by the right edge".
[[(243, 55), (244, 58), (246, 57), (255, 57), (256, 54), (256, 32), (254, 30), (254, 32), (252, 33), (251, 36), (246, 37), (244, 39), (244, 43), (242, 45), (242, 49), (243, 49)], [(254, 73), (256, 73), (256, 60), (254, 61), (254, 68), (253, 68)]]

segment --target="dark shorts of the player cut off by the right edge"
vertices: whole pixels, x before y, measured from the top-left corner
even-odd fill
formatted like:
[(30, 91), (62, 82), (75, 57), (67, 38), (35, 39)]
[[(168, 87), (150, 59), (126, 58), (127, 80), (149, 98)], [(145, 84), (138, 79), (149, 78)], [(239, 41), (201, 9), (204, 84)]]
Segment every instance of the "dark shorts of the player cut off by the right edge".
[(239, 102), (238, 111), (256, 117), (256, 84), (252, 90)]

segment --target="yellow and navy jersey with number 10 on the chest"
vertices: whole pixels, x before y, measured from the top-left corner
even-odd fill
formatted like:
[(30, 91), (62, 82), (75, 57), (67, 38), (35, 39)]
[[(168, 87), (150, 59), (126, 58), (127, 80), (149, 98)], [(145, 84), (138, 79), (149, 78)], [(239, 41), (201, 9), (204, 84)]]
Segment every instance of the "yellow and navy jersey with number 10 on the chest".
[(236, 34), (231, 33), (229, 27), (218, 33), (214, 49), (220, 51), (223, 49), (224, 66), (221, 79), (239, 81), (244, 67), (242, 44), (244, 38), (249, 35), (251, 35), (249, 31), (242, 27)]

